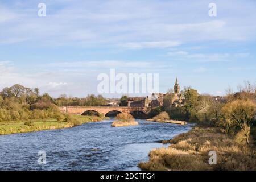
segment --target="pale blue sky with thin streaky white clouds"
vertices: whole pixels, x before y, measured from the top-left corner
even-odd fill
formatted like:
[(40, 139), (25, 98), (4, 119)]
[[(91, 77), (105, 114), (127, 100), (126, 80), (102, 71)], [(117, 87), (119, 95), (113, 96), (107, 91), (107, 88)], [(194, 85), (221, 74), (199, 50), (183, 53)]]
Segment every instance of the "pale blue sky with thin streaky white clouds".
[(253, 0), (0, 0), (0, 89), (85, 97), (98, 94), (100, 73), (115, 69), (159, 73), (163, 93), (178, 77), (181, 89), (225, 95), (229, 86), (255, 84), (255, 22)]

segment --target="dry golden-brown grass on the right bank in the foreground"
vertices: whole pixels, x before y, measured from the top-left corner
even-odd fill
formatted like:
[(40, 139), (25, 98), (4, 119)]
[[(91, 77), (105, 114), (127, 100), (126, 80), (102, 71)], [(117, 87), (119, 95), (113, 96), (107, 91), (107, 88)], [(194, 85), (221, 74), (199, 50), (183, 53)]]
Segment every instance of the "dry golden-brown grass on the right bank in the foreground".
[[(217, 127), (194, 127), (171, 143), (152, 150), (148, 162), (138, 166), (143, 170), (256, 170), (253, 136), (248, 147), (242, 135), (232, 137)], [(209, 151), (216, 151), (216, 165), (208, 163)]]

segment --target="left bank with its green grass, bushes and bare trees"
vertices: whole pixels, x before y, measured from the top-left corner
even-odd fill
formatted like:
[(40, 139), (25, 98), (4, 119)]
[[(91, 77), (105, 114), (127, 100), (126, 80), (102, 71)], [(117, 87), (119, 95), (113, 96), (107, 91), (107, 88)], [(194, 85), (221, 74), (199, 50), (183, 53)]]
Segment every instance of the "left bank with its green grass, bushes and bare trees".
[(60, 129), (102, 119), (63, 114), (56, 100), (47, 93), (41, 96), (38, 88), (16, 84), (0, 92), (0, 134)]

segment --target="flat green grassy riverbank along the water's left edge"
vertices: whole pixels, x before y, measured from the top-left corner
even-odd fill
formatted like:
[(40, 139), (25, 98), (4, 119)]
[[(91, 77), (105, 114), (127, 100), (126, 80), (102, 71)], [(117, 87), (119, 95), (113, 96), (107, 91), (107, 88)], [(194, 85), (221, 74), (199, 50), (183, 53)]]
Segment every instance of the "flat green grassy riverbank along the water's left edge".
[[(102, 121), (100, 117), (91, 117), (83, 115), (74, 115), (81, 124), (87, 122), (97, 122)], [(76, 126), (75, 123), (57, 121), (56, 119), (47, 119), (47, 120), (32, 120), (33, 126), (24, 125), (26, 121), (9, 121), (9, 122), (0, 122), (0, 135), (5, 134), (14, 134), (14, 133), (27, 133), (32, 131), (40, 130), (53, 130), (53, 129), (63, 129), (67, 127)]]

